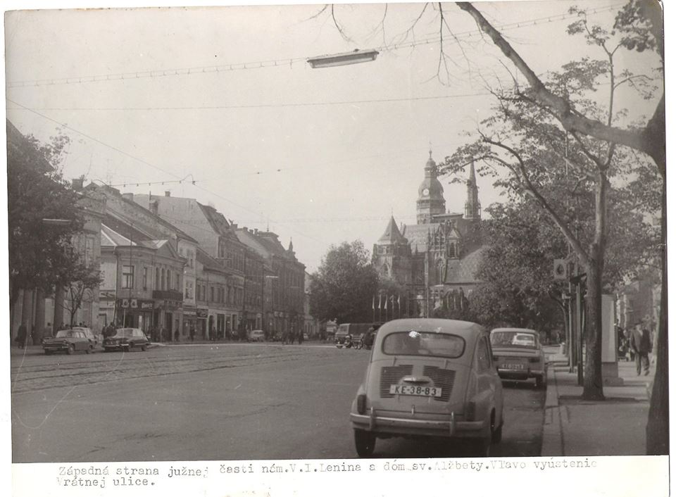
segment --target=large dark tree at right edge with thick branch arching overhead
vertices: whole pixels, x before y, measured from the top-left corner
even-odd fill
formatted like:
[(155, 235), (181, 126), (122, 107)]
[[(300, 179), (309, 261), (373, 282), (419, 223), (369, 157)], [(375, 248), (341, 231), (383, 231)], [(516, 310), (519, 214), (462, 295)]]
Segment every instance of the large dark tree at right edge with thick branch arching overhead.
[[(492, 42), (502, 51), (518, 71), (525, 76), (528, 99), (558, 120), (564, 130), (577, 136), (594, 137), (608, 144), (624, 145), (646, 153), (654, 161), (663, 179), (661, 189), (661, 275), (660, 325), (658, 327), (657, 367), (655, 384), (646, 427), (646, 453), (667, 454), (669, 451), (669, 356), (668, 356), (668, 286), (666, 266), (666, 128), (664, 90), (649, 120), (630, 127), (618, 127), (611, 120), (603, 121), (578, 108), (566, 94), (554, 92), (540, 79), (530, 65), (513, 49), (499, 30), (484, 18), (477, 8), (468, 2), (459, 2), (458, 7), (469, 13)], [(571, 32), (580, 32), (585, 26), (572, 27)], [(664, 35), (661, 4), (653, 0), (630, 0), (615, 18), (614, 31), (620, 36), (620, 46), (639, 52), (656, 51), (664, 68)], [(606, 32), (597, 34), (596, 28), (589, 32), (590, 41), (603, 46)], [(605, 47), (604, 47), (605, 48)], [(614, 53), (614, 51), (612, 52)], [(612, 114), (611, 114), (612, 115)], [(598, 356), (598, 353), (596, 353)]]

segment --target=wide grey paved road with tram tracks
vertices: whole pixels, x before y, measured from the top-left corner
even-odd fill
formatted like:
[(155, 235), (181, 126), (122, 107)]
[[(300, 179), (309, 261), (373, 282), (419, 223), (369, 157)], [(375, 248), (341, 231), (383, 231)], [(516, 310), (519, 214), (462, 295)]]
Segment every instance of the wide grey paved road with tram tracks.
[[(347, 422), (368, 351), (220, 344), (44, 356), (13, 351), (13, 461), (355, 457)], [(544, 392), (506, 385), (494, 455), (539, 455)], [(380, 457), (453, 455), (379, 441)]]

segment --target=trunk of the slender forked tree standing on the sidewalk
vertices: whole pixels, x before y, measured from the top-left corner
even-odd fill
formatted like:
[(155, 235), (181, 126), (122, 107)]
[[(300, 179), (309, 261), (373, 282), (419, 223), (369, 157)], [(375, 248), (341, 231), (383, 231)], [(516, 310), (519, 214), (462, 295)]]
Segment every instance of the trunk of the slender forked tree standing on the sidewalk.
[[(601, 273), (599, 270), (599, 248), (592, 246), (592, 261), (587, 265), (587, 316), (584, 344), (587, 358), (584, 361), (584, 387), (582, 400), (602, 401), (603, 375), (601, 374)], [(601, 266), (602, 267), (602, 266)]]

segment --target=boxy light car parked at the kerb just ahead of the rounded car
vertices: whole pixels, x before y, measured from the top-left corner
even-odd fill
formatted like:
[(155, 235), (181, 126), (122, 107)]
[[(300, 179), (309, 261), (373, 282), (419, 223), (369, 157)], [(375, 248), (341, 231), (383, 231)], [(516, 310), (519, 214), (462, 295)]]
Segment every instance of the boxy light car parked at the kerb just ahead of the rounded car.
[(547, 361), (540, 335), (527, 328), (496, 328), (491, 332), (493, 359), (503, 379), (535, 379), (535, 386), (547, 382)]

